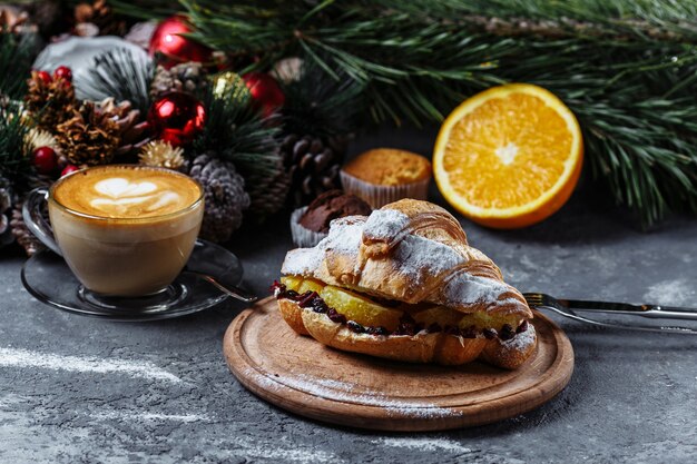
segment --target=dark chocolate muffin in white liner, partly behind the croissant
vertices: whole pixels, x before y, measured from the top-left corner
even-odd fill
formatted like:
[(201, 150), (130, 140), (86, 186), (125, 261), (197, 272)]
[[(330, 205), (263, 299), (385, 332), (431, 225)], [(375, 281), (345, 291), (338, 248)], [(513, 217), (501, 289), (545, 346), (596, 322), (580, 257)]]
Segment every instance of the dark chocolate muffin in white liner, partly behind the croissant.
[(342, 190), (325, 191), (310, 205), (293, 211), (293, 243), (298, 247), (314, 247), (327, 236), (332, 220), (346, 216), (369, 216), (371, 211), (370, 205), (355, 195)]

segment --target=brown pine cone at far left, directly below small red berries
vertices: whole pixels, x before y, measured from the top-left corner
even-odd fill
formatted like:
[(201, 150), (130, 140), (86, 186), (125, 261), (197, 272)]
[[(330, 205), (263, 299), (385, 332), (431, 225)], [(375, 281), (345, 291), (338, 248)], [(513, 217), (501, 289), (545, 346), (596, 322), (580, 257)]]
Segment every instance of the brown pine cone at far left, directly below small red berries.
[(40, 129), (52, 132), (59, 124), (72, 117), (78, 103), (72, 83), (65, 79), (46, 82), (38, 71), (31, 71), (27, 86), (27, 112)]

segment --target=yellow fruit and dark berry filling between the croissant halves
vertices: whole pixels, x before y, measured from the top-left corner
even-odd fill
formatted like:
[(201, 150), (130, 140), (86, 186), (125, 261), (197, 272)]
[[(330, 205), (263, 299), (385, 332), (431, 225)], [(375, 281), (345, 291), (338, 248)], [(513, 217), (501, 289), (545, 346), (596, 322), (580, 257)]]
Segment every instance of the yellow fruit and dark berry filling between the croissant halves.
[(277, 298), (297, 303), (304, 310), (324, 313), (334, 323), (346, 324), (354, 333), (371, 335), (415, 335), (444, 332), (464, 338), (513, 338), (527, 329), (519, 315), (463, 314), (433, 304), (406, 304), (376, 299), (355, 290), (326, 285), (301, 276), (282, 277), (275, 285)]

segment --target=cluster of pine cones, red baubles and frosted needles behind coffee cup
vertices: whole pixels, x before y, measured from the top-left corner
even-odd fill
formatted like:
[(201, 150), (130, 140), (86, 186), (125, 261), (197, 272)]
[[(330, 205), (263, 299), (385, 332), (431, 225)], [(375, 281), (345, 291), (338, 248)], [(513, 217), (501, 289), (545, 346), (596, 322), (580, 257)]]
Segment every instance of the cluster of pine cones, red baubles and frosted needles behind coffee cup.
[[(98, 3), (104, 12), (106, 3)], [(69, 57), (75, 38), (63, 37), (33, 60), (41, 48), (22, 42), (36, 28), (0, 34), (0, 65), (18, 55), (24, 63), (0, 81), (3, 245), (16, 238), (29, 254), (40, 249), (21, 218), (24, 195), (88, 166), (141, 164), (188, 174), (206, 190), (200, 235), (218, 243), (243, 218), (263, 221), (338, 187), (350, 129), (342, 125), (343, 101), (328, 96), (336, 86), (317, 86), (304, 67), (283, 79), (220, 71), (209, 49), (176, 36), (188, 30), (181, 17), (163, 21), (147, 40), (150, 55), (121, 39), (77, 39), (77, 52), (91, 55), (72, 69), (56, 65)], [(180, 40), (186, 57), (163, 52), (164, 37)]]

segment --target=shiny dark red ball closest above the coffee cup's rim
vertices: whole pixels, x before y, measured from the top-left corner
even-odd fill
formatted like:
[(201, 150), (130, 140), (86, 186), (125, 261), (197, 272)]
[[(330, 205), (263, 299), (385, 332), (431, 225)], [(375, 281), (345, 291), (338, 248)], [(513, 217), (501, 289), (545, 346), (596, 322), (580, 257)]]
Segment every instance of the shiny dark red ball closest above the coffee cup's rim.
[(148, 122), (160, 140), (179, 147), (204, 130), (206, 108), (189, 93), (169, 92), (153, 103)]

